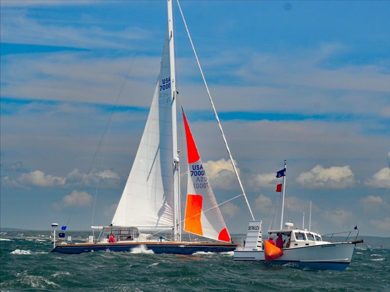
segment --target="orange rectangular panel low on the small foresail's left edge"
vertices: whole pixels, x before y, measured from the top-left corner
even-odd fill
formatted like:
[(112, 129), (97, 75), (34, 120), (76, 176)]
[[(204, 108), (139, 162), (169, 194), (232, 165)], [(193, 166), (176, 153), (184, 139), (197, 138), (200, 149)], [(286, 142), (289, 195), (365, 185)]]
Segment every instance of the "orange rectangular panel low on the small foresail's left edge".
[(186, 214), (184, 219), (185, 230), (191, 233), (203, 235), (200, 215), (202, 214), (201, 195), (187, 195)]

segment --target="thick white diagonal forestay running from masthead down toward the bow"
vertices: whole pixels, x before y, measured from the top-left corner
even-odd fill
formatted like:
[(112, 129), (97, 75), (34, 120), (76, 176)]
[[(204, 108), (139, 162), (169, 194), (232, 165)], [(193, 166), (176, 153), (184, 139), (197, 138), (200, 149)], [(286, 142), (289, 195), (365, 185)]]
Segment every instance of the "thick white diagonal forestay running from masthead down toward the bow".
[(223, 138), (223, 141), (224, 141), (224, 143), (225, 143), (226, 150), (227, 150), (227, 152), (228, 152), (228, 154), (229, 154), (230, 161), (232, 162), (233, 169), (234, 169), (234, 174), (235, 174), (235, 176), (237, 177), (238, 184), (239, 184), (239, 186), (240, 186), (242, 195), (243, 195), (244, 198), (245, 198), (245, 201), (246, 201), (246, 203), (247, 203), (247, 205), (248, 205), (249, 212), (251, 213), (252, 219), (254, 220), (254, 214), (252, 213), (252, 209), (251, 209), (251, 206), (249, 205), (248, 198), (247, 198), (247, 196), (245, 195), (244, 187), (242, 186), (240, 176), (238, 175), (237, 168), (235, 167), (234, 160), (233, 160), (233, 156), (232, 156), (232, 154), (231, 154), (231, 152), (230, 152), (230, 148), (229, 148), (229, 146), (228, 146), (228, 141), (226, 140), (225, 134), (223, 133), (222, 126), (221, 126), (221, 122), (219, 121), (219, 117), (218, 117), (218, 114), (217, 114), (216, 109), (215, 109), (215, 106), (214, 106), (213, 98), (211, 97), (211, 94), (210, 94), (210, 91), (209, 91), (209, 86), (207, 85), (206, 78), (204, 77), (202, 67), (200, 66), (200, 62), (199, 62), (198, 56), (197, 56), (196, 51), (195, 51), (194, 43), (193, 43), (193, 41), (192, 41), (192, 39), (191, 39), (190, 31), (188, 30), (188, 27), (187, 27), (187, 22), (186, 22), (186, 20), (184, 19), (183, 11), (181, 11), (181, 7), (180, 7), (179, 0), (176, 0), (176, 1), (177, 1), (177, 5), (178, 5), (178, 7), (179, 7), (179, 10), (180, 10), (181, 18), (183, 19), (184, 26), (185, 26), (186, 31), (187, 31), (188, 38), (190, 39), (191, 46), (192, 46), (192, 49), (193, 49), (194, 54), (195, 54), (196, 63), (198, 64), (198, 67), (199, 67), (199, 70), (200, 70), (200, 74), (202, 75), (202, 78), (203, 78), (203, 83), (204, 83), (204, 85), (205, 85), (205, 87), (206, 87), (206, 91), (207, 91), (207, 94), (208, 94), (209, 99), (210, 99), (210, 102), (211, 102), (211, 106), (212, 106), (213, 111), (214, 111), (215, 119), (216, 119), (216, 121), (217, 121), (217, 123), (218, 123), (218, 126), (219, 126), (219, 131), (220, 131), (221, 134), (222, 134), (222, 138)]

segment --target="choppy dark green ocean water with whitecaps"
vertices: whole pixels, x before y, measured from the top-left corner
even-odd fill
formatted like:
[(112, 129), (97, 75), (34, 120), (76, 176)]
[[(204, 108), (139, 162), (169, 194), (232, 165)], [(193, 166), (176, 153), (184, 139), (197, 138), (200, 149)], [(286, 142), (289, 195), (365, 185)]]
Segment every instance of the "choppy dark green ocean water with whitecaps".
[(0, 291), (390, 291), (390, 250), (372, 256), (364, 245), (339, 272), (234, 262), (233, 253), (64, 255), (50, 253), (48, 232), (25, 235), (1, 235)]

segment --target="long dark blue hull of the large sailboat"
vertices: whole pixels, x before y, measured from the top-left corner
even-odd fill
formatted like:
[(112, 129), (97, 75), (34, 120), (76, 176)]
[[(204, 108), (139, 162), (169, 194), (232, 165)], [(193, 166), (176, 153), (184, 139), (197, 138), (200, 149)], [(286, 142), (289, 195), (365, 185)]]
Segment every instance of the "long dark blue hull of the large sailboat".
[(110, 252), (130, 252), (133, 248), (139, 246), (145, 246), (148, 250), (152, 250), (154, 253), (175, 253), (175, 254), (193, 254), (197, 252), (205, 253), (225, 253), (233, 252), (236, 248), (236, 244), (227, 243), (194, 243), (194, 244), (164, 244), (164, 243), (111, 243), (111, 244), (68, 244), (59, 245), (53, 249), (52, 253), (64, 253), (64, 254), (80, 254), (99, 251)]

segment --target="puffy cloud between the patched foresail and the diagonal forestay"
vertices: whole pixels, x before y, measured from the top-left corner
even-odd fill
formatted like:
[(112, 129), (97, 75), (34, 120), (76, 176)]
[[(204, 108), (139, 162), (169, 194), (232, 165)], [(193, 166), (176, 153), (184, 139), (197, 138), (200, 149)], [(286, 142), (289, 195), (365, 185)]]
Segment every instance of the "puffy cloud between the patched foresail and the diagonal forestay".
[[(237, 165), (235, 161), (234, 163)], [(221, 158), (217, 161), (209, 160), (203, 163), (203, 167), (211, 180), (213, 188), (230, 190), (232, 187), (238, 185), (232, 163), (229, 160), (226, 160), (225, 158)], [(237, 172), (239, 173), (238, 168)]]

